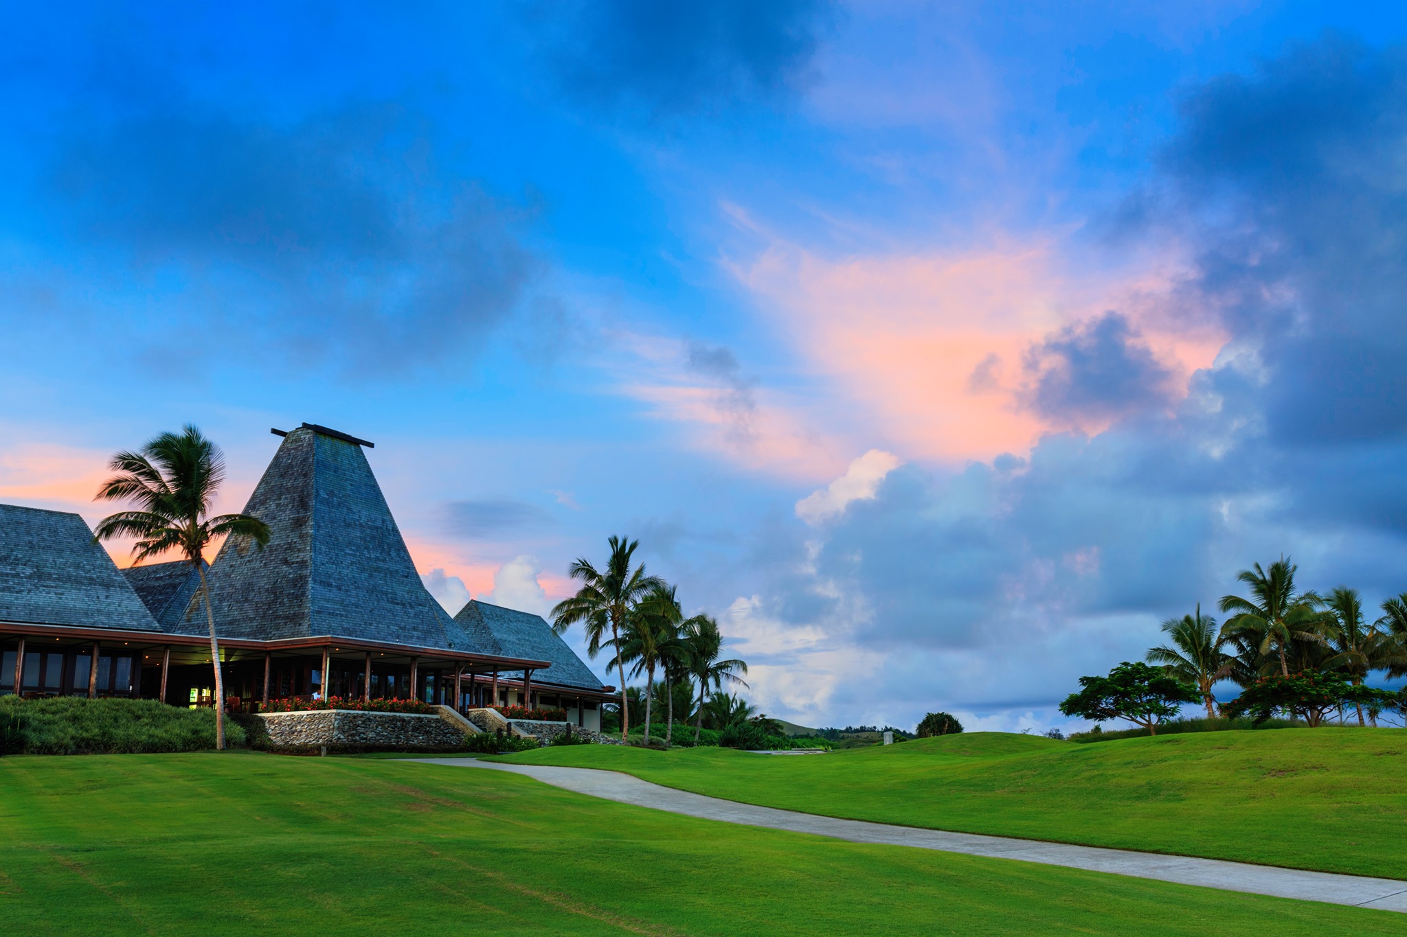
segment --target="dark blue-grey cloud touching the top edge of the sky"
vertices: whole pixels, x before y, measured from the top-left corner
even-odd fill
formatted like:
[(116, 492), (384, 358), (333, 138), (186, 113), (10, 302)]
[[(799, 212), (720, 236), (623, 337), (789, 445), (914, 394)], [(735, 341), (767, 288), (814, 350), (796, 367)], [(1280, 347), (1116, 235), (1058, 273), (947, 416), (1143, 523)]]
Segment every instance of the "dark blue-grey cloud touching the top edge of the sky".
[(549, 4), (532, 13), (563, 93), (658, 118), (779, 101), (808, 87), (822, 0)]

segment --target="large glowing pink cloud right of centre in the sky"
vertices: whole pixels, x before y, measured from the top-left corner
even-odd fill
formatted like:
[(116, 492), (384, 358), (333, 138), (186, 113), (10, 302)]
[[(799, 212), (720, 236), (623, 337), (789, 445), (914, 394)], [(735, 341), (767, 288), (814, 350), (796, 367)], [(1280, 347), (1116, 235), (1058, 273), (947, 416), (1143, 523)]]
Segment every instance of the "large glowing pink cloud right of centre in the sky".
[(827, 258), (736, 216), (768, 243), (730, 264), (734, 275), (809, 365), (868, 412), (874, 437), (902, 443), (908, 457), (989, 459), (1069, 428), (1019, 406), (1023, 355), (1043, 336), (1107, 309), (1130, 317), (1183, 392), (1223, 344), (1214, 329), (1164, 315), (1175, 257), (1089, 275), (1074, 271), (1054, 240)]

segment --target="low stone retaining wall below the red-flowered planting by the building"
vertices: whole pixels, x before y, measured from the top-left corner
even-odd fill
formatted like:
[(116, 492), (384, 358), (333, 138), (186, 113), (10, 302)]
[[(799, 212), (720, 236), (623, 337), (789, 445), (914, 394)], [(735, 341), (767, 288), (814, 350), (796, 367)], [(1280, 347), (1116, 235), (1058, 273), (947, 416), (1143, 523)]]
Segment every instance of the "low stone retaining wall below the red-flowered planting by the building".
[(438, 715), (310, 709), (259, 715), (274, 747), (449, 749), (464, 745), (464, 730)]

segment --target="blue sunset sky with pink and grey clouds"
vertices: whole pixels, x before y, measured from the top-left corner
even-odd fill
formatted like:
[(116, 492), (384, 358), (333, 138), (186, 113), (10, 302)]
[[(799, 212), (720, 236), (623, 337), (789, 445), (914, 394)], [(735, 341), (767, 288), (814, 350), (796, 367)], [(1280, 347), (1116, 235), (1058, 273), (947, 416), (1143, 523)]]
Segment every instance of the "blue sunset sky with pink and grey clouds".
[(812, 726), (1407, 590), (1407, 7), (400, 6), (7, 10), (0, 502), (329, 426), (450, 611), (639, 538)]

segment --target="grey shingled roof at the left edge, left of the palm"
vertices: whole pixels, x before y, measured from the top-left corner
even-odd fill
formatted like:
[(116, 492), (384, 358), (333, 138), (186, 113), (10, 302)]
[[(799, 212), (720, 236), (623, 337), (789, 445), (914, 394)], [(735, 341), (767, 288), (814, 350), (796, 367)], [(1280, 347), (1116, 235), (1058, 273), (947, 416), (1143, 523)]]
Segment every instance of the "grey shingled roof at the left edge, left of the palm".
[(160, 631), (77, 514), (0, 504), (0, 621)]

